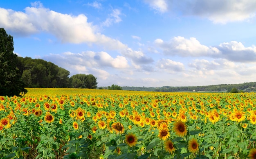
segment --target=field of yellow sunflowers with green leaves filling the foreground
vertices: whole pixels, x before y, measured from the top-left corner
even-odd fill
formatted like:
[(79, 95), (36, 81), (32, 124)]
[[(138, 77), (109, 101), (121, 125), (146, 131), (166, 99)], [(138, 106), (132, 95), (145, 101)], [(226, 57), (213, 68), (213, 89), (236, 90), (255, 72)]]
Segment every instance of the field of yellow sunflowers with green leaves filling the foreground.
[(256, 159), (255, 93), (0, 96), (1, 159)]

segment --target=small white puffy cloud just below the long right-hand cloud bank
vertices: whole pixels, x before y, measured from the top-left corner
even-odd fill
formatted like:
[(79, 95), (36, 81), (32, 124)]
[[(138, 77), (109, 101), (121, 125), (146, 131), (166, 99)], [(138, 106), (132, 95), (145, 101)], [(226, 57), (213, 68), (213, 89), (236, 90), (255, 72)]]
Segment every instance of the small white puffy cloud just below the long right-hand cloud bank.
[(182, 72), (185, 70), (183, 63), (170, 59), (160, 59), (157, 61), (157, 67), (169, 73)]

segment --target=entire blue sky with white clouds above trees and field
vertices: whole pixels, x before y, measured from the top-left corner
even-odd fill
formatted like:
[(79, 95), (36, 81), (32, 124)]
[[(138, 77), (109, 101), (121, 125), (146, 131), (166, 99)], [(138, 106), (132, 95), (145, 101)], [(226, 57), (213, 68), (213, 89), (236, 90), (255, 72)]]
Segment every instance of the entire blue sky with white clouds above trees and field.
[(1, 0), (14, 53), (98, 86), (256, 81), (256, 0)]

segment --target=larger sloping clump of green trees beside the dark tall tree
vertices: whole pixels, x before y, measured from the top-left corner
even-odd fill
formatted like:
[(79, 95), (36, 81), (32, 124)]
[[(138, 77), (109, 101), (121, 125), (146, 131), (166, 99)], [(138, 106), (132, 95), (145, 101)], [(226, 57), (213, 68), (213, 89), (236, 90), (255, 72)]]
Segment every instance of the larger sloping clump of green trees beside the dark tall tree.
[(18, 57), (17, 67), (26, 87), (67, 87), (70, 72), (54, 63), (30, 57)]

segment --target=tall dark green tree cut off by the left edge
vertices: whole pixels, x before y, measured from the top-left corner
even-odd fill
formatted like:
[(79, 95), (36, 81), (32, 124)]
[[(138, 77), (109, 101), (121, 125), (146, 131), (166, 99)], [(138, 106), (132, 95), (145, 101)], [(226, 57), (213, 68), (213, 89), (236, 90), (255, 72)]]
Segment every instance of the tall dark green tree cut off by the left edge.
[(27, 93), (16, 67), (17, 55), (13, 50), (13, 37), (4, 28), (0, 28), (0, 96), (20, 96), (20, 93)]

